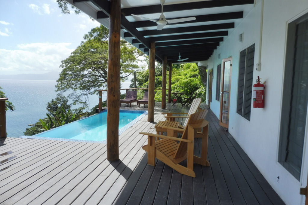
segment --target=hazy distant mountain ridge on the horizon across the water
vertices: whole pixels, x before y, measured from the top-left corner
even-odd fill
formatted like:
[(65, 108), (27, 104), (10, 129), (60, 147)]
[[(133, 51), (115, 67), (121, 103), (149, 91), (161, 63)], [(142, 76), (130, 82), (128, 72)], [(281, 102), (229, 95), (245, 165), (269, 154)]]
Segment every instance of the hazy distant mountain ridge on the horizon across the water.
[(59, 72), (51, 71), (43, 74), (0, 75), (0, 79), (8, 80), (58, 80)]

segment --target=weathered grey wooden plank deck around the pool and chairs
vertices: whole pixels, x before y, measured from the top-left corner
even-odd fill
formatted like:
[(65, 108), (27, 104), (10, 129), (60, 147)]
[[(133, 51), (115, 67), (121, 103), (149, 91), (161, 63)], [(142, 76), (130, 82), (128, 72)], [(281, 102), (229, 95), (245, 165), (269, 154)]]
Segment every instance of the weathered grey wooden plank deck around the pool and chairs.
[[(133, 104), (121, 109), (147, 109), (147, 105)], [(155, 104), (158, 122), (164, 115), (161, 103)], [(189, 109), (180, 103), (166, 107), (164, 111), (170, 112)], [(212, 111), (206, 119), (211, 166), (196, 164), (196, 178), (181, 175), (160, 161), (155, 167), (147, 165), (147, 154), (141, 149), (147, 137), (139, 134), (155, 132), (147, 117), (120, 135), (120, 160), (111, 163), (103, 143), (1, 140), (0, 204), (284, 204)], [(197, 139), (196, 155), (200, 149)]]

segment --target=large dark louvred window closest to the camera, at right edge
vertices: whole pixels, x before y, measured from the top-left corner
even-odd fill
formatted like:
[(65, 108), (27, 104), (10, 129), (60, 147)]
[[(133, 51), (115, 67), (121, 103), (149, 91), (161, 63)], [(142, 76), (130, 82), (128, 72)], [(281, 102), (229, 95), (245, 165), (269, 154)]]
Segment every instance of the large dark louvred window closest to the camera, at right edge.
[(278, 162), (300, 180), (308, 104), (308, 14), (288, 24)]

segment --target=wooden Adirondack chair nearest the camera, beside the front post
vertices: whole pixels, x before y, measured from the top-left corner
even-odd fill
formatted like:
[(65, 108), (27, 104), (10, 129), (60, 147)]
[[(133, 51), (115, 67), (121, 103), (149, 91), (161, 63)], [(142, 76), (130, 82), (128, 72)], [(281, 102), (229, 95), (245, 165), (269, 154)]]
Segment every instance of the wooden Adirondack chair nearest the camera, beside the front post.
[[(148, 164), (155, 166), (155, 158), (157, 158), (181, 174), (192, 177), (196, 176), (193, 163), (210, 166), (207, 161), (209, 122), (204, 119), (206, 113), (207, 110), (203, 110), (190, 115), (182, 138), (173, 137), (174, 132), (180, 130), (179, 128), (167, 128), (167, 136), (140, 132), (142, 135), (148, 135), (148, 144), (142, 147), (148, 153)], [(202, 133), (197, 132), (200, 128), (203, 128)], [(202, 136), (201, 157), (193, 155), (196, 135)], [(155, 138), (160, 140), (155, 141)], [(178, 141), (180, 143), (177, 143)], [(185, 159), (187, 159), (187, 167), (179, 164)]]

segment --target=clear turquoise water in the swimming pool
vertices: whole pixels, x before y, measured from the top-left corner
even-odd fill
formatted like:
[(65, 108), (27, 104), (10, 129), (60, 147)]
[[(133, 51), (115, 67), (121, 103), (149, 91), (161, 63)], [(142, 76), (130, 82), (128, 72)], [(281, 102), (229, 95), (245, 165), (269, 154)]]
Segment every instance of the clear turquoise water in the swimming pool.
[[(138, 122), (147, 112), (120, 110), (119, 135), (128, 127)], [(70, 141), (106, 141), (107, 110), (61, 127), (42, 132), (32, 137), (35, 139), (58, 138)]]

